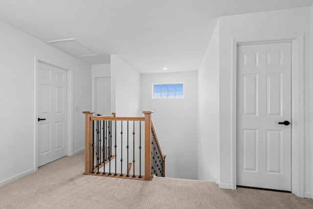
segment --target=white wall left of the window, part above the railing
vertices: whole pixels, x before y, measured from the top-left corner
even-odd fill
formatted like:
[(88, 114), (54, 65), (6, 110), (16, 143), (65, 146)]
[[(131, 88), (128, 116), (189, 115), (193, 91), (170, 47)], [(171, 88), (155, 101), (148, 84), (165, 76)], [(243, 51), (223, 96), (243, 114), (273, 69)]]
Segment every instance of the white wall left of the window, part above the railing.
[(111, 55), (111, 110), (116, 116), (143, 116), (140, 74), (115, 54)]

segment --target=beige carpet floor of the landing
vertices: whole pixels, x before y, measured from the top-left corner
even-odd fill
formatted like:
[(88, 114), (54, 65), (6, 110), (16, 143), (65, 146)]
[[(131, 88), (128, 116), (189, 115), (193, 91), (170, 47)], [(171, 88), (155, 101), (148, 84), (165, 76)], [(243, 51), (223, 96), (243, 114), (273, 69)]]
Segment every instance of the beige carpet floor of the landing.
[[(167, 168), (170, 169), (170, 168)], [(0, 186), (1, 209), (313, 209), (291, 193), (155, 177), (151, 182), (83, 175), (84, 153)]]

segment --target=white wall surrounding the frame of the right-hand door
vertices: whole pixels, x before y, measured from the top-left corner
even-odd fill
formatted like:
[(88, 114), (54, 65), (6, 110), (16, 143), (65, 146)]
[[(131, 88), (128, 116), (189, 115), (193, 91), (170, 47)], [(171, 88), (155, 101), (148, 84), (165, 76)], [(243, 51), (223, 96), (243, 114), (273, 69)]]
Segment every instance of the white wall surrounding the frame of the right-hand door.
[(232, 185), (232, 38), (304, 33), (304, 182), (305, 194), (311, 194), (310, 18), (310, 7), (220, 18), (220, 182), (224, 187)]

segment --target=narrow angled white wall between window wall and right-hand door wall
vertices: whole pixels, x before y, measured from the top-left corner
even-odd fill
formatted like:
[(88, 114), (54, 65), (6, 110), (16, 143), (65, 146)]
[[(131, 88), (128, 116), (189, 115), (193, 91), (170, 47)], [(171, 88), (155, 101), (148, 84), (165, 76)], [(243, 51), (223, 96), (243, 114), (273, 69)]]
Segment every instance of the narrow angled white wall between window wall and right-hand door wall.
[(219, 176), (219, 21), (198, 70), (198, 179)]

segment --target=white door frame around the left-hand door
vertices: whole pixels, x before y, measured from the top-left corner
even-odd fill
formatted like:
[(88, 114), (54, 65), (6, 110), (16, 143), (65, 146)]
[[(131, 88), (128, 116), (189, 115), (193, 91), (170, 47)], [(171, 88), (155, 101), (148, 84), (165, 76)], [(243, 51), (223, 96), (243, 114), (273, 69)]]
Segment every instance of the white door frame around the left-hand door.
[(73, 86), (72, 86), (72, 69), (60, 65), (59, 63), (46, 60), (44, 58), (35, 55), (35, 154), (34, 154), (34, 164), (35, 171), (38, 170), (38, 63), (44, 63), (56, 68), (67, 71), (67, 156), (73, 155), (73, 114), (72, 114), (72, 97), (73, 97)]

